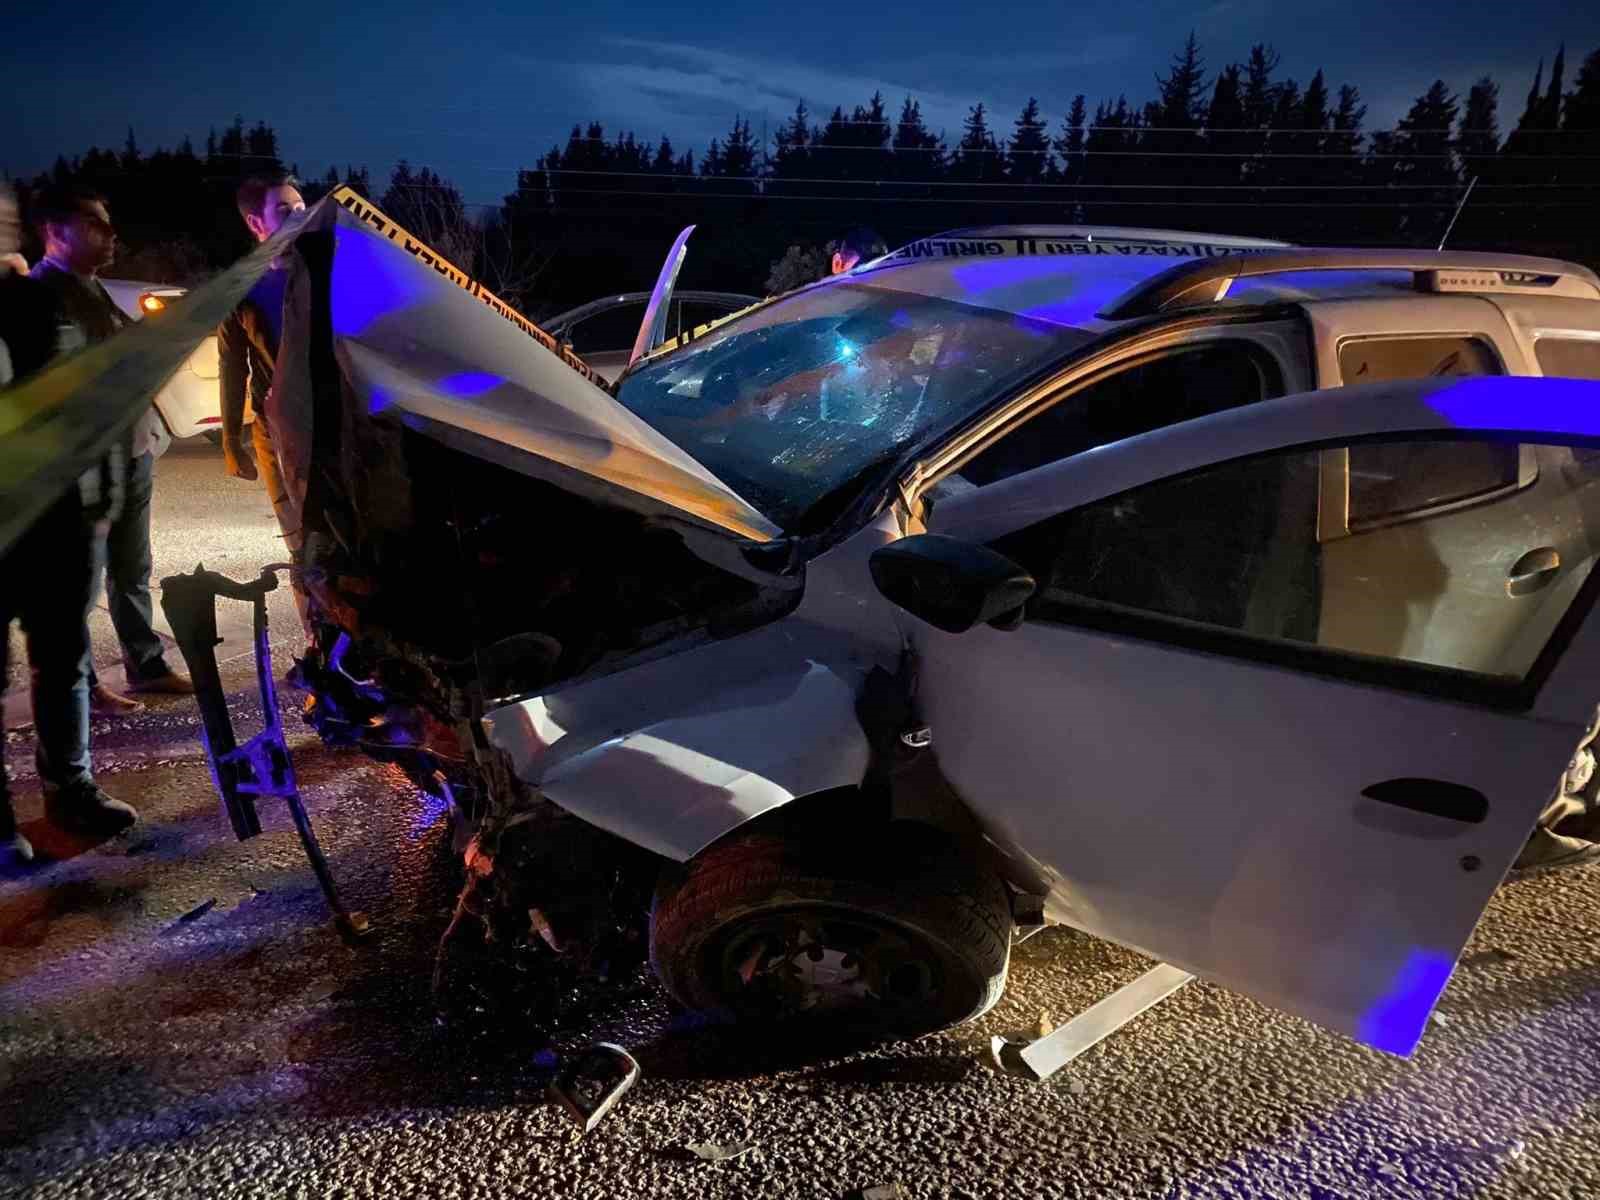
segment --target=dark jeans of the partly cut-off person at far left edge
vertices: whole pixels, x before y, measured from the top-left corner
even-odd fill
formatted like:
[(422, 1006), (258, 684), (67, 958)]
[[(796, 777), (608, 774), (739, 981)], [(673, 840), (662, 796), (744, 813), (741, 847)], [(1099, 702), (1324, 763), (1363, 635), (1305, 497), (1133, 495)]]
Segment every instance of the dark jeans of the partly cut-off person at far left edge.
[[(74, 490), (40, 517), (0, 563), (0, 686), (10, 666), (5, 634), (11, 621), (19, 619), (34, 667), (38, 779), (46, 794), (82, 786), (91, 778), (86, 618), (94, 541)], [(6, 794), (3, 758), (5, 738), (0, 736), (0, 797)]]

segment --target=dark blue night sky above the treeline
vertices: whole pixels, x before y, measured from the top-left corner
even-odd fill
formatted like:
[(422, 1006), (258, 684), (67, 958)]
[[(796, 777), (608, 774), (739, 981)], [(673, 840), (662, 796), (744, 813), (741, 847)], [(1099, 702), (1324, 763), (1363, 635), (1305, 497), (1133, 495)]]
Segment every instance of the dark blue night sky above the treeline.
[(1541, 56), (1565, 38), (1571, 83), (1600, 46), (1600, 3), (1571, 0), (1426, 10), (1394, 0), (6, 8), (0, 170), (10, 174), (93, 142), (120, 147), (130, 125), (144, 149), (190, 134), (200, 150), (208, 126), (238, 114), (274, 125), (285, 158), (306, 174), (366, 165), (381, 187), (408, 157), (451, 178), (469, 202), (498, 200), (518, 165), (589, 118), (608, 134), (667, 133), (698, 157), (736, 114), (758, 134), (797, 99), (821, 120), (882, 88), (891, 114), (906, 93), (917, 96), (952, 142), (974, 101), (1003, 133), (1035, 94), (1054, 128), (1078, 91), (1090, 112), (1118, 91), (1142, 102), (1190, 29), (1213, 69), (1266, 40), (1283, 56), (1280, 74), (1304, 83), (1320, 66), (1331, 86), (1355, 83), (1368, 126), (1392, 123), (1435, 77), (1464, 94), (1491, 74), (1507, 128)]

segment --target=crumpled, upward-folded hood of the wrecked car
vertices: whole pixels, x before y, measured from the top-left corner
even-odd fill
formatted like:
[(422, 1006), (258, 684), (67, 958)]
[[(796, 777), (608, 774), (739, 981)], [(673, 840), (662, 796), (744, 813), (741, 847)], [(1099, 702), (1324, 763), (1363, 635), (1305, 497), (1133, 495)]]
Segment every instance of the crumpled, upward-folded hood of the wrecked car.
[[(557, 485), (581, 483), (605, 499), (666, 506), (739, 538), (781, 531), (690, 454), (629, 413), (574, 355), (506, 307), (354, 192), (341, 189), (307, 218), (301, 240), (331, 234), (326, 320), (333, 355), (357, 408), (467, 453)], [(312, 256), (315, 261), (315, 256)], [(315, 270), (301, 264), (299, 270)], [(291, 285), (293, 288), (293, 285)], [(291, 301), (293, 304), (293, 301)], [(315, 334), (315, 318), (304, 326)], [(286, 325), (280, 358), (304, 349)], [(293, 376), (274, 430), (309, 400)], [(309, 442), (301, 442), (309, 451)], [(309, 474), (309, 454), (288, 450), (286, 474)], [(581, 480), (574, 480), (581, 477)]]

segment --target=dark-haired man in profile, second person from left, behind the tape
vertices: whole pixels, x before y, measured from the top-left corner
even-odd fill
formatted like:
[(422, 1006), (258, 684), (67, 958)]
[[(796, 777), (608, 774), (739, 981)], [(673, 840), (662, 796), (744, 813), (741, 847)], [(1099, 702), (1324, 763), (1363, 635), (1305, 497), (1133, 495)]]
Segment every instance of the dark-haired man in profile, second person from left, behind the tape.
[[(96, 278), (102, 267), (110, 266), (117, 251), (117, 232), (106, 211), (106, 200), (80, 189), (53, 189), (42, 198), (37, 219), (45, 238), (45, 258), (34, 267), (30, 278), (54, 294), (62, 317), (82, 331), (85, 341), (106, 341), (130, 323)], [(131, 445), (125, 445), (128, 462), (123, 506), (102, 544), (106, 600), (122, 643), (128, 691), (192, 696), (194, 683), (189, 677), (166, 666), (150, 600), (150, 493), (160, 419), (155, 408), (149, 408), (133, 427)], [(90, 704), (101, 714), (126, 714), (144, 707), (101, 683), (93, 666)]]

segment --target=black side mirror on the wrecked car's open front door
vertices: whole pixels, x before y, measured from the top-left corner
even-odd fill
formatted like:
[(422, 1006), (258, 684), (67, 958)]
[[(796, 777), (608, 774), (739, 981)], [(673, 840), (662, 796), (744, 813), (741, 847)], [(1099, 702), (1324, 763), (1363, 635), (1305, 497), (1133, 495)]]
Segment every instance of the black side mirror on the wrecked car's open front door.
[(918, 533), (872, 552), (872, 582), (891, 602), (946, 634), (973, 626), (1016, 629), (1034, 576), (987, 546)]

